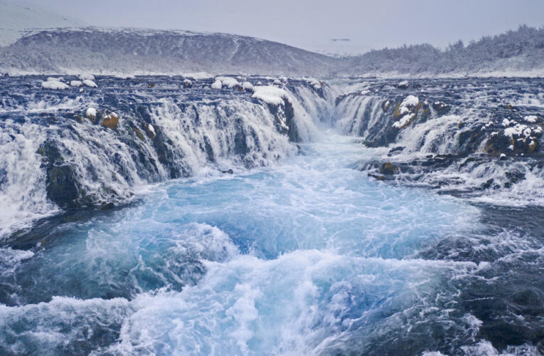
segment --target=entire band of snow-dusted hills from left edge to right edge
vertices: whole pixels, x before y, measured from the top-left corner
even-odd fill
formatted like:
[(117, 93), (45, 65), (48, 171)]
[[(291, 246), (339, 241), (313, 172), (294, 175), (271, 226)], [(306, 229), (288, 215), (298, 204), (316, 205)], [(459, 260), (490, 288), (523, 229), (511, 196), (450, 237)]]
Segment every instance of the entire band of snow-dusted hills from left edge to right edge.
[(0, 73), (208, 72), (257, 75), (544, 76), (544, 28), (521, 26), (498, 36), (335, 58), (282, 43), (225, 33), (134, 28), (29, 31), (0, 48)]

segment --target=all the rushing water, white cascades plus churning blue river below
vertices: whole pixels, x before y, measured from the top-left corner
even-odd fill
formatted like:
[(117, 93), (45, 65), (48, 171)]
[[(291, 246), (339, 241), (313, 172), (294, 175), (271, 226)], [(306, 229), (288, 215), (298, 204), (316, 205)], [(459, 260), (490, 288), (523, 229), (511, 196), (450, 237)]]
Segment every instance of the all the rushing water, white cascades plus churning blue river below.
[[(408, 93), (398, 103), (357, 93), (335, 108), (336, 89), (289, 80), (278, 108), (235, 88), (214, 91), (209, 80), (191, 89), (172, 78), (117, 81), (98, 80), (75, 98), (31, 90), (33, 108), (13, 95), (2, 102), (2, 145), (17, 154), (3, 167), (1, 192), (17, 192), (14, 182), (32, 188), (23, 203), (12, 196), (23, 204), (17, 214), (60, 209), (48, 199), (52, 167), (73, 167), (82, 205), (132, 201), (67, 206), (15, 234), (36, 216), (2, 223), (2, 353), (541, 351), (542, 234), (521, 219), (528, 210), (544, 219), (538, 206), (474, 204), (360, 170), (397, 145), (399, 157), (418, 159), (468, 150), (451, 145), (457, 133), (439, 131), (459, 125), (455, 112), (441, 126), (437, 109), (421, 120), (421, 107), (395, 132)], [(117, 127), (78, 118), (89, 107), (116, 112)], [(407, 104), (406, 115), (416, 107)], [(380, 131), (378, 112), (388, 110)], [(9, 175), (17, 160), (28, 176)]]

